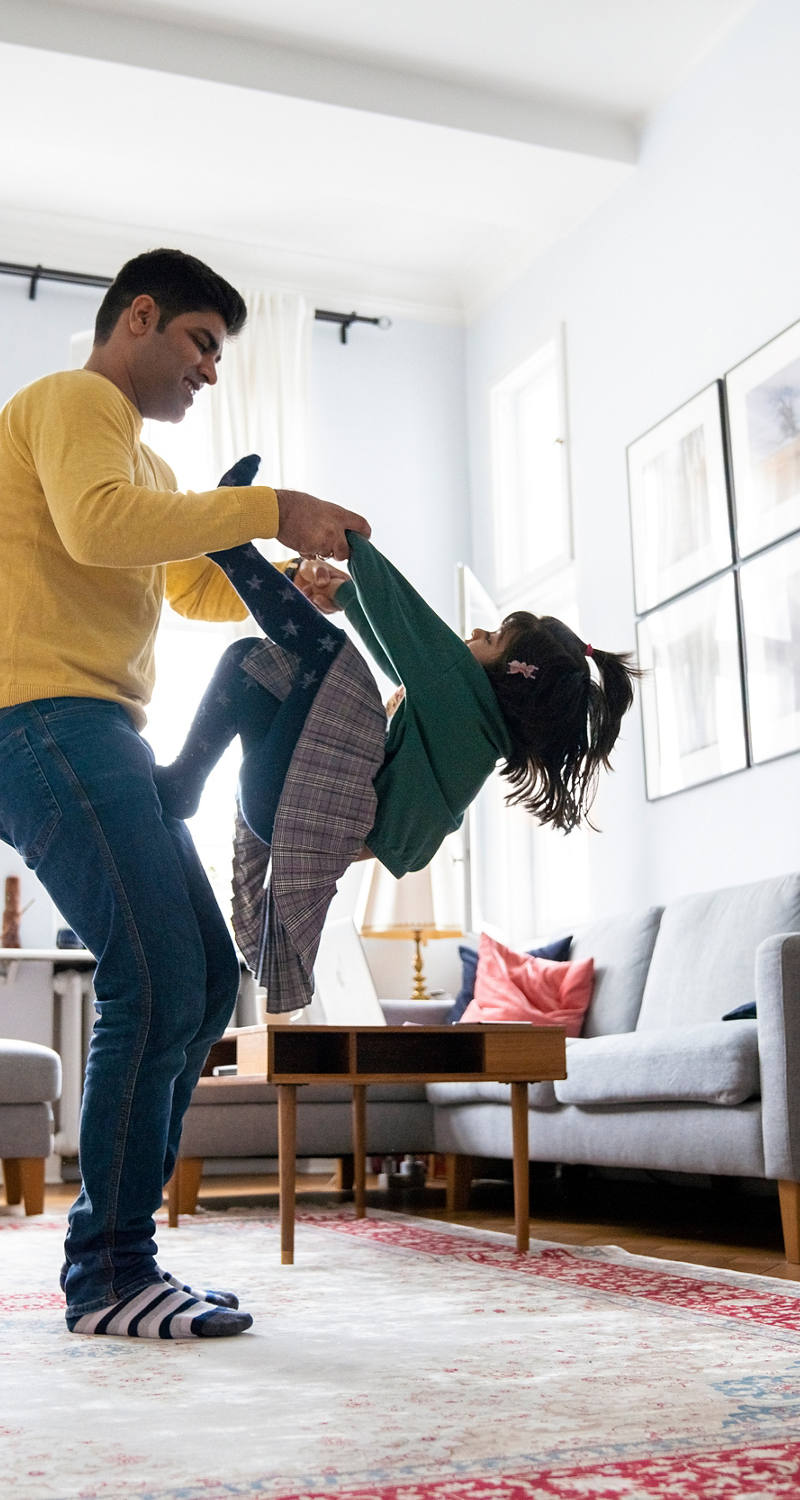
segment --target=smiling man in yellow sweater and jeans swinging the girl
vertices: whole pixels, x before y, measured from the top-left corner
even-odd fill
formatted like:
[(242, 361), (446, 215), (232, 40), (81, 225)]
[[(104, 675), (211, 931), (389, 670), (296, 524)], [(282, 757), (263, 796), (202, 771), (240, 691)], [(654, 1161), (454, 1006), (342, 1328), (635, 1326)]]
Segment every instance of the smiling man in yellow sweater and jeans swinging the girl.
[(296, 490), (180, 494), (140, 442), (218, 378), (246, 318), (194, 256), (123, 266), (86, 369), (48, 375), (0, 412), (0, 837), (95, 954), (98, 1022), (69, 1214), (68, 1328), (138, 1338), (249, 1328), (231, 1293), (156, 1263), (153, 1214), (239, 963), (183, 822), (162, 813), (141, 738), (164, 597), (197, 620), (246, 614), (204, 554), (278, 537), (345, 558), (362, 516)]

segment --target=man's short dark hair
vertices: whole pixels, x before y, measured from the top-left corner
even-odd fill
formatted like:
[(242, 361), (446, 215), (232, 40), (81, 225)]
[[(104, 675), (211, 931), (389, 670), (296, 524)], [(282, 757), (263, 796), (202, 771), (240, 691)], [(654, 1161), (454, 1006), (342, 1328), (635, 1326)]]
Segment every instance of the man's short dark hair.
[(183, 250), (146, 250), (111, 282), (95, 321), (95, 344), (108, 342), (120, 314), (144, 292), (158, 304), (159, 332), (182, 312), (218, 312), (231, 336), (245, 327), (243, 298), (210, 266)]

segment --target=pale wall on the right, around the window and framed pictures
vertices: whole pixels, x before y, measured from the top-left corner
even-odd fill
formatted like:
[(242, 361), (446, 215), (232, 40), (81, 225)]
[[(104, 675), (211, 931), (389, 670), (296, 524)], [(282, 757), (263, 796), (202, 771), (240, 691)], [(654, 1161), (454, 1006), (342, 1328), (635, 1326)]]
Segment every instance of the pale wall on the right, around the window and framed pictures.
[[(647, 130), (635, 177), (467, 334), (473, 536), (491, 579), (488, 387), (563, 321), (581, 624), (635, 644), (626, 444), (800, 318), (800, 6), (762, 0)], [(648, 804), (636, 716), (597, 801), (597, 914), (798, 867), (800, 758)]]

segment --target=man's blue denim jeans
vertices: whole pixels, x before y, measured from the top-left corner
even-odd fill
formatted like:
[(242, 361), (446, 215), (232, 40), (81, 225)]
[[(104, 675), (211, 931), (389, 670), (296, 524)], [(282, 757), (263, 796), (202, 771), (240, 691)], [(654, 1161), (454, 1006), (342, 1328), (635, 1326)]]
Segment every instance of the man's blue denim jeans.
[(69, 1212), (71, 1314), (158, 1276), (153, 1214), (239, 962), (185, 824), (165, 818), (153, 753), (119, 704), (0, 710), (0, 837), (98, 960)]

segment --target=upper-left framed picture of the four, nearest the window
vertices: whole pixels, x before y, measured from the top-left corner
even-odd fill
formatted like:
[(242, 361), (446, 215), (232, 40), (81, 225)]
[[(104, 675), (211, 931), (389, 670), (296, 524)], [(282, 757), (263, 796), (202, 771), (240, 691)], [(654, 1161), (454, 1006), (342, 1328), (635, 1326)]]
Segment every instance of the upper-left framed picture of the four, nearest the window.
[(627, 489), (638, 614), (731, 564), (720, 381), (629, 446)]

